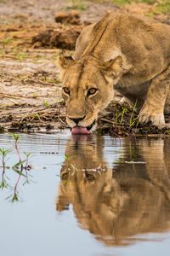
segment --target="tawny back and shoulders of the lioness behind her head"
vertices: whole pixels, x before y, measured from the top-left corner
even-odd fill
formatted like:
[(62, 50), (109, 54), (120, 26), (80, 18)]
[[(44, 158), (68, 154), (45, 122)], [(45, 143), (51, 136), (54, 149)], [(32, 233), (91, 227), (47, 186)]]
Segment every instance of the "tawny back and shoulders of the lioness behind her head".
[(133, 66), (133, 74), (149, 80), (170, 63), (170, 26), (111, 13), (82, 30), (74, 56), (109, 61), (118, 51)]

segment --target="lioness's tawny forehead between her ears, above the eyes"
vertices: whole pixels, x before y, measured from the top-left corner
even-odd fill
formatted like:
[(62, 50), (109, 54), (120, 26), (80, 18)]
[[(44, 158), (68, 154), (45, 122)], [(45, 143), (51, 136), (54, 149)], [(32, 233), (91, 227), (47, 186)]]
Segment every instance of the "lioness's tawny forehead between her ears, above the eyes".
[(97, 64), (94, 61), (77, 61), (65, 71), (63, 84), (70, 88), (75, 86), (88, 88), (89, 86), (98, 86), (101, 83), (105, 83), (105, 76)]

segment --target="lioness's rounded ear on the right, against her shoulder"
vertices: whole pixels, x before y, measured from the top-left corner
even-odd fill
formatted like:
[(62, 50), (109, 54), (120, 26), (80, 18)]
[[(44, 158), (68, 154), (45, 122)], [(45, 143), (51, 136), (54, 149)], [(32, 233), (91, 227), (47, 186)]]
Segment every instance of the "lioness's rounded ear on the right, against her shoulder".
[(115, 59), (105, 62), (103, 72), (111, 79), (116, 79), (122, 73), (122, 64), (122, 56), (118, 56)]

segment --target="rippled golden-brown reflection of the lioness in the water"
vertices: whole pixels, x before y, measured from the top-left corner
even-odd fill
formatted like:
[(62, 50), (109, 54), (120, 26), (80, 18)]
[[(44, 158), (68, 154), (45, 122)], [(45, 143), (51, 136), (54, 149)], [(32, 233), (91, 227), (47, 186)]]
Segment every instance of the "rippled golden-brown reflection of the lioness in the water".
[(60, 172), (57, 211), (72, 205), (82, 229), (107, 245), (170, 230), (170, 160), (164, 150), (169, 141), (121, 143), (123, 155), (111, 169), (103, 155), (104, 138), (73, 137)]

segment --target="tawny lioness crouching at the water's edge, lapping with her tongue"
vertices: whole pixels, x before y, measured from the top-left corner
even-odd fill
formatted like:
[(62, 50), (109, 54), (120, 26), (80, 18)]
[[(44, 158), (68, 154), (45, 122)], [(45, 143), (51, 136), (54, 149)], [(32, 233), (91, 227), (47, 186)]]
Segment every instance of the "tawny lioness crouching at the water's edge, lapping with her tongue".
[(165, 125), (170, 113), (170, 26), (132, 15), (106, 15), (85, 27), (73, 55), (59, 55), (72, 133), (88, 134), (118, 90), (138, 102), (139, 121)]

